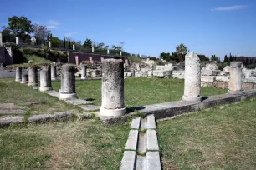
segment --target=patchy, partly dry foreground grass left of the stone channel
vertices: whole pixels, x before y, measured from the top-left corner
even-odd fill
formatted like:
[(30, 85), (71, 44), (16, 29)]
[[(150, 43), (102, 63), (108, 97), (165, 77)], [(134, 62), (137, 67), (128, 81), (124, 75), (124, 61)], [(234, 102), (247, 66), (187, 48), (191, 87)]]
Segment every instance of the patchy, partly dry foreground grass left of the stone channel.
[(119, 169), (128, 123), (98, 120), (0, 129), (0, 169)]

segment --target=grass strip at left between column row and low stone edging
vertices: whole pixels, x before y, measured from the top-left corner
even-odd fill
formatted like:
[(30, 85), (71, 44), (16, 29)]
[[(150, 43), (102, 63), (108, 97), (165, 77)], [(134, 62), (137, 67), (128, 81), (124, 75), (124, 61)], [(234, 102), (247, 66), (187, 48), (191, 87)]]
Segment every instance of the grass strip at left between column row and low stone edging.
[[(23, 106), (23, 103), (26, 102), (38, 102), (38, 104)], [(56, 97), (51, 97), (43, 92), (38, 92), (38, 90), (33, 90), (32, 87), (28, 87), (28, 84), (15, 82), (15, 78), (0, 79), (0, 103), (21, 105), (27, 111), (27, 114), (54, 113), (67, 110), (79, 112), (77, 107), (59, 101)]]

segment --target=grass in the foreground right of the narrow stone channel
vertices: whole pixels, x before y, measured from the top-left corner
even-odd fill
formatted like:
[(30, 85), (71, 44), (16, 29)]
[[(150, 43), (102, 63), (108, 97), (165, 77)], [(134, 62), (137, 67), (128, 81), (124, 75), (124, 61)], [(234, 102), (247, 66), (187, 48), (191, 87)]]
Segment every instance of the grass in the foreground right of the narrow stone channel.
[(157, 123), (164, 169), (256, 169), (256, 99)]

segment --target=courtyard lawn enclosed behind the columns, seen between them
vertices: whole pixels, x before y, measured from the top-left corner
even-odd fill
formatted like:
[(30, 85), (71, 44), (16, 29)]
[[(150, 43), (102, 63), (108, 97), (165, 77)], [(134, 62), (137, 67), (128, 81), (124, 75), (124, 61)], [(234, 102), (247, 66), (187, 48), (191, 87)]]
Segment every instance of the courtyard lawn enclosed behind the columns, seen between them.
[[(101, 80), (77, 81), (76, 92), (79, 98), (95, 99), (95, 105), (101, 104)], [(60, 82), (53, 82), (54, 90), (58, 91)], [(179, 79), (136, 78), (125, 79), (125, 106), (139, 107), (160, 102), (182, 100), (184, 81)], [(202, 87), (202, 96), (227, 93), (226, 89)]]

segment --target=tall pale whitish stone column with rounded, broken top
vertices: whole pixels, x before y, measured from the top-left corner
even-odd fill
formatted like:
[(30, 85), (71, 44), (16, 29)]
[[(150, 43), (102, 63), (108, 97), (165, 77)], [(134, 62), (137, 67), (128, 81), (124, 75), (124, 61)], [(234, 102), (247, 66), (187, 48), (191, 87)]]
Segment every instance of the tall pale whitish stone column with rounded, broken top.
[(184, 102), (201, 102), (201, 69), (200, 59), (194, 52), (185, 56)]

